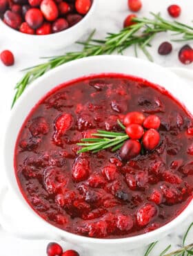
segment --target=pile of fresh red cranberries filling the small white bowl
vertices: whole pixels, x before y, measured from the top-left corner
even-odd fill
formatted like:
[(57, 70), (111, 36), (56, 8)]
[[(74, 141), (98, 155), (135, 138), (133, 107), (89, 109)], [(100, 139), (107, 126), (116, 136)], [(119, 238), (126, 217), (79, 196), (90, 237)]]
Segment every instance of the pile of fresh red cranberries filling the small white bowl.
[(77, 24), (91, 4), (91, 0), (0, 0), (0, 17), (22, 33), (48, 35)]

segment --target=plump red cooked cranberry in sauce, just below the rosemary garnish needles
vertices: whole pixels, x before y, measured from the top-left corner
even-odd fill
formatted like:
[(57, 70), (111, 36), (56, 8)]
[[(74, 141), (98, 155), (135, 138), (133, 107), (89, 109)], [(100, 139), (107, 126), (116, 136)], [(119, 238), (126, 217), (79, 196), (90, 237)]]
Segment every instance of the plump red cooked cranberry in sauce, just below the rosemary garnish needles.
[(90, 175), (90, 161), (87, 158), (77, 158), (72, 167), (72, 179), (75, 182), (85, 181)]

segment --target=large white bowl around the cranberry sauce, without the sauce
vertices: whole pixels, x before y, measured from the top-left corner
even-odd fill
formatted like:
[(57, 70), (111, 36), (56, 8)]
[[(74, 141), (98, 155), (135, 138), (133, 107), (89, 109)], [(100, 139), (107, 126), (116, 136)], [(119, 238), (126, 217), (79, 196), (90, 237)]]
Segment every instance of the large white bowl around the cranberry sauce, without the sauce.
[[(62, 237), (72, 244), (79, 244), (91, 251), (99, 250), (105, 255), (105, 252), (108, 250), (118, 252), (119, 250), (136, 248), (161, 239), (161, 237), (172, 232), (174, 227), (179, 226), (181, 222), (192, 213), (193, 201), (187, 205), (185, 210), (183, 210), (178, 217), (170, 221), (170, 223), (167, 223), (165, 226), (144, 235), (121, 239), (94, 239), (65, 232), (41, 219), (41, 217), (30, 208), (28, 203), (26, 203), (26, 200), (23, 199), (17, 185), (13, 166), (14, 145), (19, 129), (23, 124), (23, 120), (26, 119), (29, 111), (34, 107), (37, 101), (54, 86), (68, 80), (73, 80), (77, 77), (96, 73), (123, 73), (134, 75), (136, 77), (143, 77), (145, 80), (149, 80), (154, 84), (164, 86), (165, 89), (170, 91), (176, 98), (179, 98), (181, 102), (184, 102), (187, 108), (193, 112), (193, 90), (183, 83), (179, 77), (161, 66), (132, 57), (116, 55), (84, 58), (83, 60), (77, 60), (55, 68), (30, 84), (29, 88), (26, 89), (15, 104), (10, 115), (4, 143), (4, 164), (10, 189), (14, 192), (26, 210), (28, 210), (29, 214), (32, 215), (33, 226), (39, 230), (34, 233), (34, 237), (39, 237), (39, 232), (43, 231), (45, 236), (46, 234), (52, 234), (52, 237)], [(12, 227), (11, 232), (14, 232), (14, 227)]]

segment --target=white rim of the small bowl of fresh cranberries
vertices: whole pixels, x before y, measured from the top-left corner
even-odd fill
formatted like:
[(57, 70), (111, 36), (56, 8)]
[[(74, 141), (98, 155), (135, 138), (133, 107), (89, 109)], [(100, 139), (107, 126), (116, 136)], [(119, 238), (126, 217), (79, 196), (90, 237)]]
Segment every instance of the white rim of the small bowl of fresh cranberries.
[(92, 1), (92, 6), (90, 7), (90, 10), (88, 10), (87, 14), (83, 17), (83, 19), (81, 19), (81, 21), (79, 21), (74, 26), (67, 28), (65, 30), (59, 31), (57, 33), (52, 33), (48, 35), (30, 35), (30, 34), (22, 33), (19, 30), (15, 30), (14, 28), (11, 28), (10, 26), (6, 25), (2, 19), (0, 19), (0, 26), (2, 26), (4, 30), (7, 30), (9, 34), (12, 34), (13, 37), (17, 36), (17, 37), (20, 37), (21, 39), (30, 39), (30, 40), (33, 39), (37, 41), (41, 39), (43, 40), (53, 39), (54, 37), (60, 37), (61, 35), (65, 35), (67, 33), (75, 33), (76, 30), (78, 30), (81, 27), (81, 25), (83, 25), (83, 23), (85, 23), (85, 21), (87, 21), (87, 19), (89, 19), (91, 15), (93, 15), (94, 9), (96, 8), (97, 1), (98, 0)]

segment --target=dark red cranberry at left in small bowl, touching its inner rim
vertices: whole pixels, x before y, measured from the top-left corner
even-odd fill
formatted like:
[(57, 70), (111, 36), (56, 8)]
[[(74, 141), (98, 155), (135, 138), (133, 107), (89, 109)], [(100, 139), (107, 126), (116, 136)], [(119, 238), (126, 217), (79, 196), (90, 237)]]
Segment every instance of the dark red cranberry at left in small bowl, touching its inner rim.
[(22, 19), (21, 16), (15, 12), (12, 12), (10, 10), (7, 10), (3, 16), (3, 21), (14, 29), (19, 29)]

